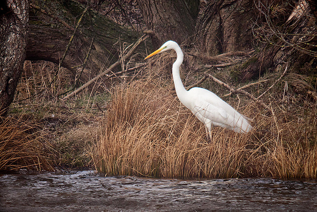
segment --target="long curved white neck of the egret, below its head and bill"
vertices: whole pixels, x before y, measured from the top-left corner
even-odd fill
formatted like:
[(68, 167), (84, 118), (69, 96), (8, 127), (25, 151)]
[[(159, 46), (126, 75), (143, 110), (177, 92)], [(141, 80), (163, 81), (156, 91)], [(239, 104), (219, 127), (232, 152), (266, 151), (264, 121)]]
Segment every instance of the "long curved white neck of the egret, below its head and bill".
[(174, 50), (177, 54), (177, 59), (174, 62), (173, 69), (172, 69), (173, 80), (174, 80), (176, 94), (179, 100), (182, 102), (181, 98), (184, 96), (183, 94), (187, 92), (179, 75), (179, 68), (180, 68), (180, 65), (183, 63), (184, 55), (182, 50), (179, 47), (175, 48)]

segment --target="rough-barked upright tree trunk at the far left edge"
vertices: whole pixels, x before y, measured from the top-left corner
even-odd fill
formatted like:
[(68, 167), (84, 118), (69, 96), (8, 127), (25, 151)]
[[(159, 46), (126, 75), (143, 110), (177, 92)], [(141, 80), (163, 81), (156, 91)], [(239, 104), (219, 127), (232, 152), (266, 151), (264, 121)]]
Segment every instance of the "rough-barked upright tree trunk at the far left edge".
[(27, 0), (0, 4), (0, 115), (6, 115), (22, 73), (25, 58)]

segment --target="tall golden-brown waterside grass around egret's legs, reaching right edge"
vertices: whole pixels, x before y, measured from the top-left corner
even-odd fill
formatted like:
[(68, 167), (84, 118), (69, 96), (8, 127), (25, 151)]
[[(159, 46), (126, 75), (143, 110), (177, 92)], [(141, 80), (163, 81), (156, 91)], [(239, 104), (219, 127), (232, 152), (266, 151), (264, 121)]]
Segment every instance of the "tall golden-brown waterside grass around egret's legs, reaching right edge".
[(100, 121), (95, 166), (107, 175), (316, 178), (316, 114), (298, 122), (276, 108), (268, 115), (250, 103), (242, 112), (255, 117), (251, 133), (214, 127), (209, 140), (172, 85), (136, 81), (112, 96)]

